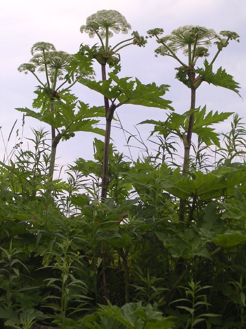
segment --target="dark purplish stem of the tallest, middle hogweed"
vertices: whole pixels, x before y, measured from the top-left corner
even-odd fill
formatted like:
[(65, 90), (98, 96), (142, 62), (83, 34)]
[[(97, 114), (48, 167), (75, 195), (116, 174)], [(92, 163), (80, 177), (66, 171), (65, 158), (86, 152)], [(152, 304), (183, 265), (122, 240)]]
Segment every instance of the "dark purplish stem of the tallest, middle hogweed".
[[(101, 64), (102, 66), (102, 80), (106, 80), (106, 63)], [(115, 110), (114, 104), (109, 106), (109, 99), (104, 96), (104, 106), (105, 106), (105, 117), (106, 117), (106, 130), (104, 139), (104, 150), (103, 150), (103, 170), (102, 170), (102, 192), (101, 201), (103, 202), (107, 198), (108, 190), (108, 167), (109, 167), (109, 144), (110, 144), (110, 132), (111, 132), (111, 122), (113, 118), (113, 113)]]

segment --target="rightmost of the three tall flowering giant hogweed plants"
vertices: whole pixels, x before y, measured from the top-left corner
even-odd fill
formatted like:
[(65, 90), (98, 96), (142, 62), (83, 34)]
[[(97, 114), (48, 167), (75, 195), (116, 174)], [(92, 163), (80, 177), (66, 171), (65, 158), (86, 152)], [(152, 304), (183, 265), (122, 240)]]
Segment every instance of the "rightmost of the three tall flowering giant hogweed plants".
[[(217, 70), (216, 73), (213, 73), (212, 71), (213, 63), (217, 59), (220, 52), (228, 46), (230, 40), (236, 40), (239, 42), (239, 36), (237, 33), (231, 31), (221, 31), (220, 35), (218, 35), (213, 29), (192, 25), (179, 27), (178, 29), (173, 30), (170, 35), (166, 36), (162, 36), (163, 32), (164, 30), (161, 28), (149, 30), (147, 31), (147, 38), (155, 37), (157, 38), (157, 42), (161, 44), (155, 50), (156, 56), (170, 56), (181, 64), (180, 67), (176, 68), (178, 71), (176, 73), (176, 78), (183, 82), (191, 90), (190, 111), (184, 113), (184, 120), (182, 120), (179, 115), (177, 116), (177, 114), (174, 114), (174, 120), (176, 120), (174, 131), (176, 131), (177, 135), (182, 139), (184, 144), (184, 163), (182, 174), (184, 177), (187, 177), (189, 172), (191, 137), (194, 128), (199, 128), (196, 133), (198, 136), (202, 134), (204, 135), (205, 143), (211, 142), (212, 138), (216, 139), (216, 133), (213, 133), (212, 136), (211, 128), (209, 131), (207, 126), (215, 122), (220, 122), (221, 120), (223, 121), (229, 116), (229, 114), (218, 114), (216, 112), (214, 115), (216, 117), (215, 118), (212, 115), (212, 112), (210, 112), (209, 115), (207, 115), (205, 118), (205, 108), (203, 108), (201, 111), (203, 114), (201, 115), (199, 113), (200, 108), (196, 109), (196, 89), (201, 85), (203, 81), (205, 81), (209, 84), (212, 83), (215, 86), (231, 89), (239, 94), (238, 88), (240, 87), (230, 74), (227, 74), (221, 67)], [(210, 63), (205, 58), (204, 68), (196, 68), (197, 61), (200, 58), (209, 56), (208, 47), (212, 45), (212, 40), (214, 39), (216, 40), (214, 44), (216, 44), (218, 48), (216, 54)], [(183, 58), (180, 57), (178, 53), (179, 50), (183, 50), (183, 54), (188, 57), (187, 61), (184, 62)], [(202, 121), (204, 118), (207, 120), (205, 120), (203, 124), (200, 122), (200, 127), (194, 127), (194, 123), (196, 122), (197, 118), (199, 118), (200, 121)], [(173, 124), (172, 114), (168, 120), (169, 125), (167, 126), (170, 128), (170, 123)], [(150, 121), (148, 123), (150, 123)], [(184, 129), (184, 132), (180, 131), (180, 127)], [(210, 135), (210, 137), (208, 135)], [(218, 144), (218, 138), (216, 139), (216, 142)], [(181, 200), (180, 221), (184, 221), (184, 206), (185, 202), (184, 200)]]

